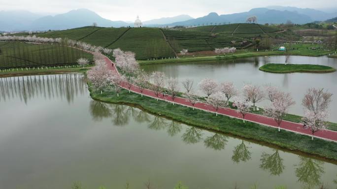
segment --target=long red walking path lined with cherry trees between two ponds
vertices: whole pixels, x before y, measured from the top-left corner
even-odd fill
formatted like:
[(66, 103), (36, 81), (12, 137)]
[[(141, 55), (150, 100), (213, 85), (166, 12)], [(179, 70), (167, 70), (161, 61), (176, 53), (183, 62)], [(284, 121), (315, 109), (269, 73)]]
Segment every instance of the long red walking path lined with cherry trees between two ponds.
[[(109, 58), (105, 57), (105, 62), (106, 62), (106, 66), (108, 67), (109, 70), (119, 74), (117, 68), (115, 67), (115, 64), (113, 64), (113, 62)], [(122, 87), (127, 88), (126, 86), (122, 86)], [(135, 93), (141, 94), (141, 92), (138, 90), (138, 88), (134, 85), (131, 87), (130, 90), (135, 92)], [(149, 89), (144, 89), (142, 94), (144, 96), (157, 98), (155, 93), (152, 90), (149, 90)], [(158, 99), (168, 101), (168, 102), (174, 103), (174, 104), (192, 107), (192, 104), (187, 99), (180, 98), (180, 97), (176, 97), (174, 99), (174, 102), (173, 102), (172, 98), (169, 97), (169, 95), (165, 95), (165, 97), (163, 97), (163, 94), (160, 94)], [(195, 104), (194, 108), (202, 109), (202, 110), (209, 111), (209, 112), (215, 112), (214, 108), (212, 108), (211, 106), (209, 106), (205, 103)], [(242, 115), (239, 112), (237, 112), (235, 109), (220, 108), (218, 110), (218, 114), (242, 119)], [(254, 114), (254, 113), (247, 113), (244, 117), (244, 120), (254, 122), (254, 123), (258, 123), (258, 124), (261, 124), (261, 125), (266, 125), (266, 126), (269, 126), (269, 127), (278, 128), (278, 126), (277, 126), (277, 124), (276, 124), (276, 122), (273, 118), (266, 117), (266, 116), (263, 116), (263, 115), (258, 115), (258, 114)], [(310, 135), (311, 136), (311, 131), (308, 130), (308, 129), (304, 129), (303, 125), (299, 124), (299, 123), (294, 123), (294, 122), (290, 122), (290, 121), (282, 121), (281, 124), (280, 124), (280, 129), (291, 131), (291, 132), (302, 134), (302, 135)], [(314, 137), (337, 142), (337, 132), (331, 131), (331, 130), (318, 131), (314, 134)]]

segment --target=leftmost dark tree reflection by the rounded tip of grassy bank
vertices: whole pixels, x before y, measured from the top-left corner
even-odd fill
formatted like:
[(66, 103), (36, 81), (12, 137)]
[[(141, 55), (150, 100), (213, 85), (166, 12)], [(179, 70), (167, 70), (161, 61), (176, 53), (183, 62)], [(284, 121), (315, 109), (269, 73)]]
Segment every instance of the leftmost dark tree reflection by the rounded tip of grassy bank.
[(112, 115), (108, 104), (100, 101), (92, 100), (90, 102), (89, 109), (94, 121), (102, 121), (103, 118), (108, 118)]

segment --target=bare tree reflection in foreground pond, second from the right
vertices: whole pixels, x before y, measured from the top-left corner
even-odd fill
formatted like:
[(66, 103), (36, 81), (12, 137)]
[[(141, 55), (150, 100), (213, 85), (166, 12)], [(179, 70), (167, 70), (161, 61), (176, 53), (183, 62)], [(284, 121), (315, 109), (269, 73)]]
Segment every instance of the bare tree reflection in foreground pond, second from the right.
[(272, 175), (280, 175), (283, 172), (284, 165), (283, 159), (278, 154), (278, 150), (276, 150), (273, 154), (267, 154), (264, 152), (261, 155), (260, 168), (268, 170)]

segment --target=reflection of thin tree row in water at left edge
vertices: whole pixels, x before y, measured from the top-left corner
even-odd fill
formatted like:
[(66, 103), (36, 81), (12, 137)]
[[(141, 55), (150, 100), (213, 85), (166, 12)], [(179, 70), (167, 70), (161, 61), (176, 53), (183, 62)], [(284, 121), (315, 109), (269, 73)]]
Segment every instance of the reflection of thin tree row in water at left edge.
[(0, 101), (19, 98), (26, 104), (33, 98), (66, 98), (73, 102), (78, 94), (84, 94), (86, 82), (81, 74), (21, 76), (0, 78)]

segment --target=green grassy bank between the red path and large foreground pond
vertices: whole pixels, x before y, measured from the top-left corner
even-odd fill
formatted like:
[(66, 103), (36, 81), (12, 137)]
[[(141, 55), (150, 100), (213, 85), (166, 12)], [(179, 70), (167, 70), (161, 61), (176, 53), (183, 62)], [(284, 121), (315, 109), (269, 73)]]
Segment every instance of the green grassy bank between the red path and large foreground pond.
[(270, 128), (252, 122), (243, 123), (242, 120), (230, 118), (228, 116), (215, 116), (215, 113), (199, 109), (192, 110), (192, 108), (172, 105), (172, 103), (164, 101), (157, 101), (154, 98), (145, 96), (141, 97), (139, 94), (129, 93), (124, 89), (120, 93), (119, 97), (117, 97), (115, 92), (110, 89), (103, 91), (103, 94), (92, 87), (89, 87), (89, 90), (92, 98), (96, 100), (108, 103), (135, 105), (151, 113), (162, 115), (192, 126), (224, 134), (254, 139), (268, 144), (277, 145), (285, 149), (301, 151), (337, 161), (336, 142), (330, 142), (318, 138), (311, 141), (310, 136), (299, 135), (283, 130), (281, 132), (277, 132), (277, 129), (275, 128)]

